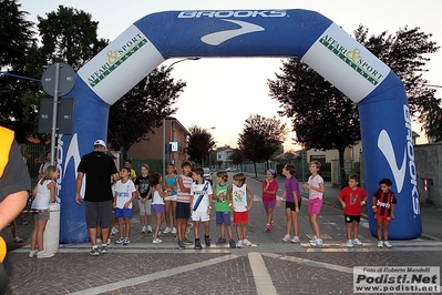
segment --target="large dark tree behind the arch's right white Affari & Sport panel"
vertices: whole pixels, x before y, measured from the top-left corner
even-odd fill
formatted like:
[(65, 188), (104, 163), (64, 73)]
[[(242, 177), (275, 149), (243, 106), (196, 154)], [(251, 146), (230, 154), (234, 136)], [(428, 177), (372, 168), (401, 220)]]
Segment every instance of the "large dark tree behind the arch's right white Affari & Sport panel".
[[(405, 27), (394, 35), (382, 32), (368, 38), (368, 29), (362, 26), (354, 34), (407, 82), (411, 113), (420, 113), (419, 120), (425, 122), (425, 110), (436, 103), (434, 91), (424, 87), (426, 81), (422, 78), (423, 67), (429, 61), (424, 54), (439, 49), (429, 40), (431, 34)], [(282, 62), (281, 71), (276, 74), (276, 80), (269, 81), (271, 96), (284, 108), (280, 114), (291, 118), (296, 142), (306, 149), (338, 150), (343, 185), (343, 151), (360, 140), (357, 105), (299, 59)]]

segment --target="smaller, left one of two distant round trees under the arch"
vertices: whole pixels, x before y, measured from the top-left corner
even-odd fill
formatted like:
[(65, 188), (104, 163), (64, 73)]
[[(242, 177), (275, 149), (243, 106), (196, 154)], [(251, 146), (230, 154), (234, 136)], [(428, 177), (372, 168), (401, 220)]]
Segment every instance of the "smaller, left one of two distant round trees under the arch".
[(197, 165), (199, 163), (204, 165), (204, 160), (215, 146), (214, 138), (207, 130), (197, 125), (192, 125), (188, 131), (191, 135), (188, 136), (187, 154)]

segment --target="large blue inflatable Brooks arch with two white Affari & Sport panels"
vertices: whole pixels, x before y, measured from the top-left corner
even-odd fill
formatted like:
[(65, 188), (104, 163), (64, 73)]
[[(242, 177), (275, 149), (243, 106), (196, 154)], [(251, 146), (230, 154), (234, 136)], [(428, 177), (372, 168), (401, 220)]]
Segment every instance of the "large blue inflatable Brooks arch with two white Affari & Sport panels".
[[(144, 17), (78, 72), (72, 135), (60, 135), (58, 166), (64, 243), (89, 240), (75, 204), (76, 166), (106, 138), (109, 108), (169, 58), (298, 57), (358, 104), (367, 192), (380, 179), (397, 193), (391, 238), (421, 235), (408, 99), (401, 80), (331, 20), (307, 10), (167, 11)], [(370, 197), (371, 200), (371, 197)], [(368, 203), (370, 231), (376, 221)]]

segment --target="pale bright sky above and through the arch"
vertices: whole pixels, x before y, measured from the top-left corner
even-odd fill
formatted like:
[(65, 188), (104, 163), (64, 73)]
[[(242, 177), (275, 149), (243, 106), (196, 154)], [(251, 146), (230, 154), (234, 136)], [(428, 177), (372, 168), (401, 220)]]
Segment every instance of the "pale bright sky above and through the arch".
[[(394, 33), (399, 28), (420, 27), (425, 33), (432, 33), (432, 40), (442, 45), (441, 0), (372, 0), (372, 1), (329, 1), (329, 0), (21, 0), (22, 10), (30, 12), (29, 20), (37, 22), (37, 16), (44, 17), (54, 11), (59, 4), (84, 10), (99, 21), (99, 37), (114, 40), (129, 26), (146, 14), (166, 10), (189, 9), (309, 9), (317, 11), (341, 26), (349, 34), (359, 26), (370, 29), (371, 34), (387, 30)], [(175, 60), (165, 61), (171, 64)], [(273, 116), (279, 110), (278, 102), (269, 98), (267, 79), (275, 79), (279, 72), (281, 59), (202, 59), (185, 61), (174, 67), (173, 77), (187, 82), (182, 94), (175, 116), (189, 128), (196, 124), (202, 128), (216, 126), (210, 130), (217, 145), (236, 146), (238, 133), (244, 128), (249, 114)], [(442, 84), (442, 51), (432, 54), (428, 65), (430, 72), (425, 78), (431, 84)], [(439, 91), (439, 96), (441, 91)], [(195, 114), (192, 105), (205, 103), (213, 111)], [(222, 110), (222, 111), (219, 111)], [(281, 118), (287, 122), (289, 120)], [(419, 132), (420, 128), (414, 126)], [(290, 134), (285, 144), (290, 144)], [(425, 142), (421, 136), (420, 142)]]

